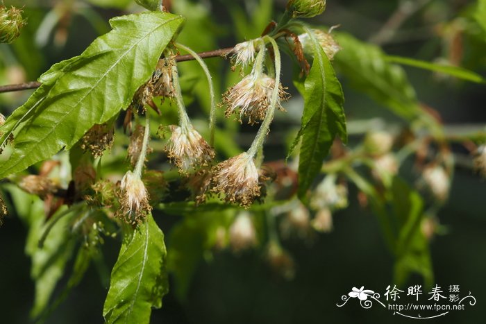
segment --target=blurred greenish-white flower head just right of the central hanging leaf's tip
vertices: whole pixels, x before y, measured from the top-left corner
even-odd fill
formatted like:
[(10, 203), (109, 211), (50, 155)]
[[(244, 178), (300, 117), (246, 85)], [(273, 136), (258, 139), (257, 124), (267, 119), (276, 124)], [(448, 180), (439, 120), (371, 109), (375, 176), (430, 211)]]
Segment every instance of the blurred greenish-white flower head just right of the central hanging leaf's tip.
[(335, 174), (329, 174), (317, 185), (310, 197), (310, 207), (314, 210), (323, 208), (342, 209), (348, 206), (348, 189), (336, 183)]

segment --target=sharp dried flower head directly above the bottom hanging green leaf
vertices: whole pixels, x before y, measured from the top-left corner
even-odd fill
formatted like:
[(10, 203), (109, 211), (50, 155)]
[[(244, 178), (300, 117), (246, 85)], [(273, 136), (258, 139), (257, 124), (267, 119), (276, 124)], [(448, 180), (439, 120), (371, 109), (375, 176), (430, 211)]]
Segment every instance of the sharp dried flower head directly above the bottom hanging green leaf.
[(146, 214), (152, 210), (144, 182), (132, 171), (125, 173), (121, 179), (119, 201), (120, 207), (116, 216), (131, 225), (142, 223)]

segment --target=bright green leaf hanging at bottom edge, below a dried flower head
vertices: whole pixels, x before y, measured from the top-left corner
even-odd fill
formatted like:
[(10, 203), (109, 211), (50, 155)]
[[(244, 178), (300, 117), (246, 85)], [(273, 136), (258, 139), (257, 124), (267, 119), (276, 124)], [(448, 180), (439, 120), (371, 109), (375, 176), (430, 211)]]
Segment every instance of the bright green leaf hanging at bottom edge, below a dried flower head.
[(164, 235), (149, 214), (138, 228), (126, 228), (103, 307), (107, 323), (149, 323), (151, 307), (162, 307), (169, 284)]

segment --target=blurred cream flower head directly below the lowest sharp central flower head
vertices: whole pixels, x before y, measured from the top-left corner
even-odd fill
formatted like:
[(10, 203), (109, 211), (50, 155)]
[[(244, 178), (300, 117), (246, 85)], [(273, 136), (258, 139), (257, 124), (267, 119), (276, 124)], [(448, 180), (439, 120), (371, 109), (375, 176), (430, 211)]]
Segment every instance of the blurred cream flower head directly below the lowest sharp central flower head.
[(230, 227), (230, 244), (233, 251), (240, 252), (255, 246), (256, 231), (249, 212), (240, 212)]

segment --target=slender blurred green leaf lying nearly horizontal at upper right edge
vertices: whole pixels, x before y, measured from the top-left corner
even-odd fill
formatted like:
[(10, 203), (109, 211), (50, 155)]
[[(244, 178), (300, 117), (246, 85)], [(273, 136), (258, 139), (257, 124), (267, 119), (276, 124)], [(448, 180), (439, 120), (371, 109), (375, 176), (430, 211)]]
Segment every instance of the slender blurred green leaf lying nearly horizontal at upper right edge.
[(414, 58), (403, 58), (401, 56), (385, 56), (385, 60), (401, 65), (410, 65), (411, 67), (418, 67), (420, 69), (427, 69), (443, 74), (449, 74), (450, 76), (455, 76), (456, 78), (471, 81), (474, 83), (486, 83), (486, 80), (482, 76), (462, 67), (454, 67), (452, 65), (440, 65), (437, 63), (430, 63), (422, 60), (415, 60)]

